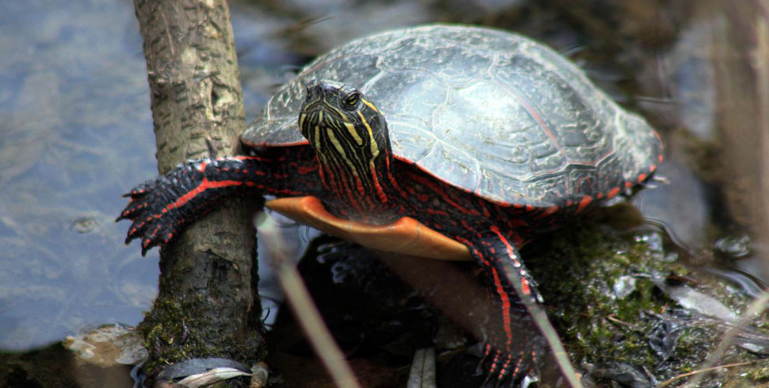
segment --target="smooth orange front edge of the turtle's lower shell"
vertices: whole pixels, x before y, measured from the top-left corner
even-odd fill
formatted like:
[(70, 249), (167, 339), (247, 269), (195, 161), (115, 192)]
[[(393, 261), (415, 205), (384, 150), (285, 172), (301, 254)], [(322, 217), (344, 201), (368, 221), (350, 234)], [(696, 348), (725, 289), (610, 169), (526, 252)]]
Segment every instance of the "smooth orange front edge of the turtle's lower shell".
[(316, 197), (279, 198), (267, 201), (265, 205), (301, 224), (364, 247), (430, 259), (471, 260), (470, 251), (464, 244), (411, 217), (387, 225), (362, 224), (331, 215)]

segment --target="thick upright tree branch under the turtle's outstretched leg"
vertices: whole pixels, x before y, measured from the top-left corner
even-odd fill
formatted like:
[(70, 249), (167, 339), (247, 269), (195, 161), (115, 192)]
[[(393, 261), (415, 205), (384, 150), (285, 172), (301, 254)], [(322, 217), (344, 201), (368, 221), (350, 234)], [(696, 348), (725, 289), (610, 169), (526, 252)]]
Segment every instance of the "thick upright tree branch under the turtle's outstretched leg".
[[(135, 10), (160, 173), (190, 158), (237, 153), (245, 114), (225, 0), (135, 0)], [(246, 365), (263, 358), (253, 209), (228, 201), (161, 250), (158, 297), (139, 326), (150, 376), (188, 358)]]

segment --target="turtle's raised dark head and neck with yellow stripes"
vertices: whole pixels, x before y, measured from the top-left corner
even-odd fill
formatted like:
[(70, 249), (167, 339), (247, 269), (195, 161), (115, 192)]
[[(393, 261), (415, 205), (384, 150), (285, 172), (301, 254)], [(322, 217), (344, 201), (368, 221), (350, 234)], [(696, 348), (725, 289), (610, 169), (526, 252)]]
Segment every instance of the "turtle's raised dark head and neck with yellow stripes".
[(386, 185), (393, 178), (387, 122), (361, 91), (335, 81), (310, 81), (299, 128), (315, 148), (325, 186), (350, 198), (343, 202), (358, 207), (353, 197), (377, 201), (365, 206), (370, 209), (388, 203)]

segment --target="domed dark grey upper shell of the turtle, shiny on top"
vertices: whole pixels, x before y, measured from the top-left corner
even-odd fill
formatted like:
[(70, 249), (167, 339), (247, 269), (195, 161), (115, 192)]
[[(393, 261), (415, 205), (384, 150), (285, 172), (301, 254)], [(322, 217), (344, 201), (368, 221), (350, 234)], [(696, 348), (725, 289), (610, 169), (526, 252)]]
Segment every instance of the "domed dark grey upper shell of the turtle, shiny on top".
[(395, 158), (498, 204), (609, 196), (661, 160), (646, 121), (548, 46), (458, 25), (383, 32), (321, 55), (268, 101), (244, 144), (306, 144), (297, 120), (312, 79), (351, 85), (374, 102)]

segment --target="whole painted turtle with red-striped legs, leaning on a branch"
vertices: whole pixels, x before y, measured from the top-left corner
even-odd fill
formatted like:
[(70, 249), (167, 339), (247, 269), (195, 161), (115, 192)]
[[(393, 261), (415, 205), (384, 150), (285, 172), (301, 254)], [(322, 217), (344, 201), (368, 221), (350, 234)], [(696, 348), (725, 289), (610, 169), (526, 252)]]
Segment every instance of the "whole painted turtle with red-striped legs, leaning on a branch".
[(517, 248), (662, 161), (654, 130), (551, 48), (451, 25), (331, 50), (241, 141), (248, 156), (190, 161), (127, 194), (127, 241), (141, 238), (144, 253), (225, 197), (267, 194), (278, 197), (268, 207), (361, 244), (471, 257), (497, 300), (484, 364), (498, 382), (541, 350)]

